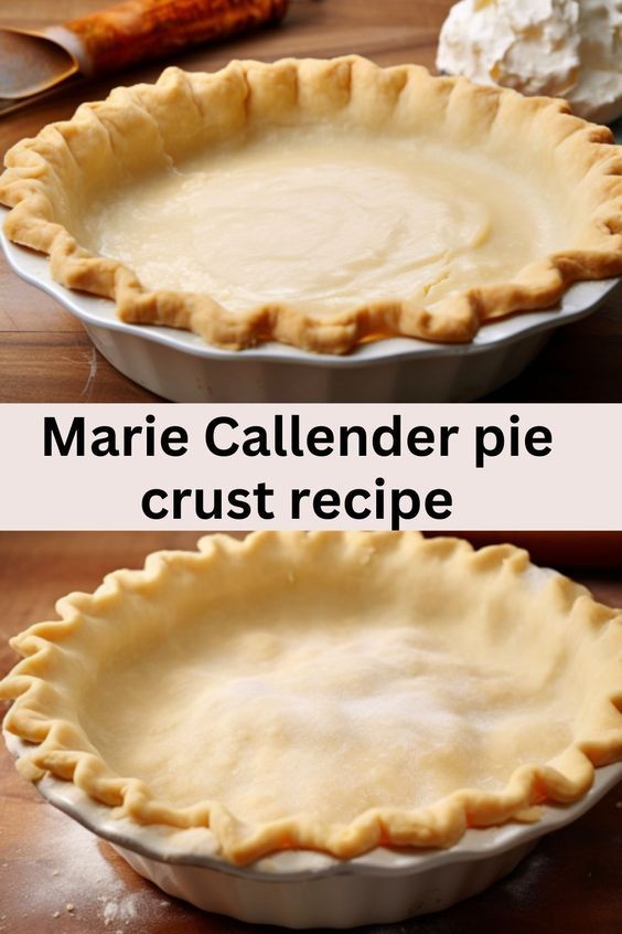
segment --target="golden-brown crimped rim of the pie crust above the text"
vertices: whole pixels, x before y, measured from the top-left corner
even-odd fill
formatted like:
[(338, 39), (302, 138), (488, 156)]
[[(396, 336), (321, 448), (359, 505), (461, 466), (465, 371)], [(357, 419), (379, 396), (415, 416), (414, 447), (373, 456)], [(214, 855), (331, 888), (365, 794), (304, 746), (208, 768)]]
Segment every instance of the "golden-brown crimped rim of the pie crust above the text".
[[(573, 181), (569, 187), (573, 198), (580, 188), (581, 202), (588, 205), (580, 242), (529, 264), (512, 282), (473, 286), (433, 310), (405, 298), (320, 316), (286, 304), (234, 314), (207, 295), (148, 291), (131, 269), (92, 254), (58, 222), (54, 203), (63, 192), (62, 188), (57, 191), (57, 168), (76, 158), (72, 147), (95, 126), (112, 138), (125, 127), (131, 132), (147, 120), (156, 125), (158, 135), (167, 110), (174, 113), (178, 105), (186, 106), (192, 99), (204, 115), (211, 103), (226, 108), (227, 94), (237, 95), (238, 104), (243, 98), (246, 119), (258, 107), (285, 124), (296, 123), (301, 108), (303, 119), (324, 119), (350, 108), (355, 120), (380, 129), (392, 108), (398, 109), (408, 94), (429, 94), (438, 121), (451, 120), (460, 128), (474, 125), (490, 131), (500, 119), (508, 125), (518, 119), (517, 146), (528, 146), (529, 130), (545, 135), (561, 164), (571, 174), (580, 172), (579, 185)], [(555, 305), (576, 280), (622, 273), (622, 155), (611, 131), (572, 116), (558, 99), (523, 98), (513, 91), (478, 86), (461, 77), (433, 77), (419, 65), (382, 68), (350, 55), (274, 64), (234, 61), (212, 75), (167, 68), (154, 85), (116, 88), (105, 102), (83, 104), (72, 120), (52, 124), (34, 139), (18, 142), (7, 153), (6, 164), (0, 202), (12, 209), (6, 233), (15, 243), (49, 254), (54, 279), (115, 300), (127, 323), (183, 328), (227, 349), (274, 339), (317, 352), (345, 353), (371, 337), (397, 335), (464, 342), (472, 340), (482, 322)]]

